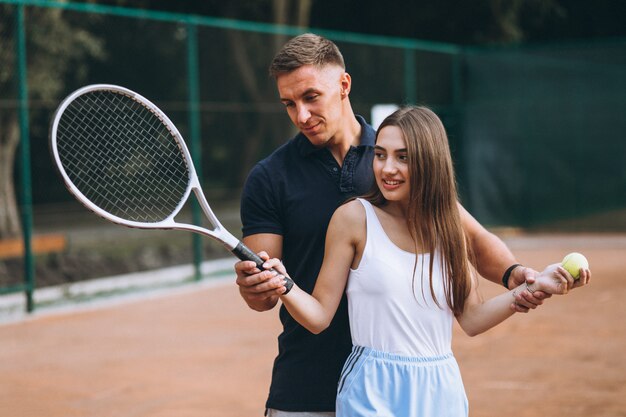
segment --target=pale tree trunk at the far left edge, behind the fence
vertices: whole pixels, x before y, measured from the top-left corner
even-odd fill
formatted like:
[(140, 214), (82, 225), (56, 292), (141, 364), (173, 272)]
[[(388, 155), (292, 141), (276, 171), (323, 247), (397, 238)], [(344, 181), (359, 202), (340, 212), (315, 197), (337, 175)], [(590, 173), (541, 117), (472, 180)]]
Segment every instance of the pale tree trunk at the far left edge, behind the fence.
[(13, 113), (0, 119), (0, 239), (6, 239), (18, 237), (21, 232), (13, 182), (20, 136), (17, 115)]

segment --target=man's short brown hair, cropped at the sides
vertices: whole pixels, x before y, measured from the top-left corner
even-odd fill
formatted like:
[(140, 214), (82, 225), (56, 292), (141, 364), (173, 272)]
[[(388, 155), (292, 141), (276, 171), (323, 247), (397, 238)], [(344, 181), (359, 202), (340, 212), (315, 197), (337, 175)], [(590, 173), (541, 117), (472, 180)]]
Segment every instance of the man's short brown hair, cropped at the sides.
[(304, 65), (322, 67), (329, 64), (346, 68), (337, 45), (322, 36), (305, 33), (292, 38), (278, 51), (269, 70), (270, 76), (277, 78)]

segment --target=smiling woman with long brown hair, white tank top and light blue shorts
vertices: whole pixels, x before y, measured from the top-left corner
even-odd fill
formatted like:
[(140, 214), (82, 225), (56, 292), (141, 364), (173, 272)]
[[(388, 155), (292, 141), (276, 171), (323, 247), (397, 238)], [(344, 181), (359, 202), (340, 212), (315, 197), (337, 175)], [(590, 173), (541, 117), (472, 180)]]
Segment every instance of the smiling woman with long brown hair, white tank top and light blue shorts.
[[(467, 416), (451, 351), (452, 320), (477, 335), (510, 317), (518, 291), (566, 293), (573, 278), (558, 265), (483, 302), (461, 226), (445, 129), (424, 107), (381, 124), (374, 190), (337, 209), (313, 295), (297, 286), (281, 300), (313, 333), (348, 296), (353, 351), (344, 365), (337, 416)], [(287, 274), (280, 261), (264, 265)], [(588, 270), (581, 280), (589, 280)]]

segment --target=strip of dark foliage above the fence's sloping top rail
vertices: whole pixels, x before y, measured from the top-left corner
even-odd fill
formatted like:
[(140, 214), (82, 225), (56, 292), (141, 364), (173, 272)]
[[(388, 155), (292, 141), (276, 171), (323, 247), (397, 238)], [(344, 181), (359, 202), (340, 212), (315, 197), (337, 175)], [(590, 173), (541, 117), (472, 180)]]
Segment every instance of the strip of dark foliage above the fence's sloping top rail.
[(466, 45), (626, 35), (626, 8), (619, 0), (85, 1), (266, 23), (279, 22), (282, 13), (294, 25), (298, 9), (310, 7), (313, 28)]

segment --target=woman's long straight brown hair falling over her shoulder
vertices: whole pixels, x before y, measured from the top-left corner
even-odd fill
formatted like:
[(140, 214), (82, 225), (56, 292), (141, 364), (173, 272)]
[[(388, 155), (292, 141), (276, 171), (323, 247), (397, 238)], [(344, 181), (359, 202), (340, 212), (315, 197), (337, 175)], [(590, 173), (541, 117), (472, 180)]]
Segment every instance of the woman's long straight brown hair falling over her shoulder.
[[(470, 245), (461, 224), (458, 195), (448, 136), (437, 115), (426, 107), (404, 107), (388, 116), (378, 128), (397, 126), (404, 135), (411, 185), (407, 226), (415, 253), (430, 254), (430, 292), (433, 263), (439, 251), (444, 269), (446, 302), (455, 315), (463, 312), (471, 286)], [(387, 201), (378, 186), (364, 196), (375, 206)], [(415, 281), (414, 267), (413, 281)]]

